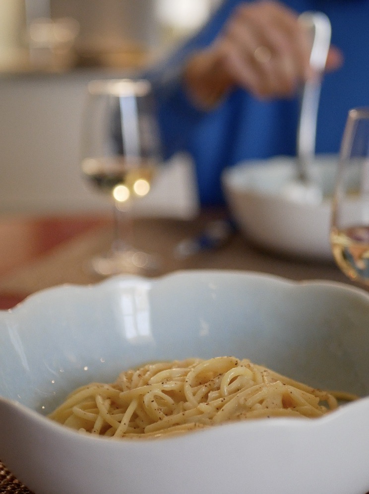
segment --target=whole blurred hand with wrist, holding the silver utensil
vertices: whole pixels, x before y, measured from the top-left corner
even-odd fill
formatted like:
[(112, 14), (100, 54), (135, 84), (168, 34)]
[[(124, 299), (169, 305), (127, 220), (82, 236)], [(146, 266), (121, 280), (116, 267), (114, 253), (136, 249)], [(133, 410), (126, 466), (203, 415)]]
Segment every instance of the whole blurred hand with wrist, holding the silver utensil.
[[(234, 87), (260, 99), (292, 96), (314, 76), (311, 41), (298, 14), (277, 1), (241, 3), (208, 49), (189, 60), (184, 81), (193, 101), (211, 108)], [(326, 70), (342, 63), (330, 47)]]

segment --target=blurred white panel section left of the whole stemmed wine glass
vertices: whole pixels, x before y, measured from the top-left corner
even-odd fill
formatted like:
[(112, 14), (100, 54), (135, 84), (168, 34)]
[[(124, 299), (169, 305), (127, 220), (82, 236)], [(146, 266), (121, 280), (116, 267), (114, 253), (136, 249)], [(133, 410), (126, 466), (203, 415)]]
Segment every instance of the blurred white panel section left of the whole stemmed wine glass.
[(79, 126), (88, 77), (0, 79), (0, 210), (104, 207), (83, 187)]

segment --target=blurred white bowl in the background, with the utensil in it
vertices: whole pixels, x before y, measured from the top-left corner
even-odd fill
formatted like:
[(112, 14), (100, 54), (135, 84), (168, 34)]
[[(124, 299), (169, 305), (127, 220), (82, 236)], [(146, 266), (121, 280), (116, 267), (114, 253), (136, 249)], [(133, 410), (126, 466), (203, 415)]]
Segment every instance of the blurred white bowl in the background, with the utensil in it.
[(318, 203), (294, 201), (284, 194), (296, 175), (295, 159), (279, 156), (226, 169), (226, 200), (241, 231), (255, 244), (289, 256), (333, 260), (329, 226), (338, 157), (318, 155), (311, 167), (323, 190)]

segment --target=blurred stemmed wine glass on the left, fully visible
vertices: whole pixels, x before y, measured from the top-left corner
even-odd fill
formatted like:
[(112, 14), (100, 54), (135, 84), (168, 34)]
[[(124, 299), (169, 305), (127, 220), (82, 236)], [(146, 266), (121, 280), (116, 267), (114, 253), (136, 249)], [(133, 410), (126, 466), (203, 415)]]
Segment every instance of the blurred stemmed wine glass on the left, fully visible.
[(162, 163), (155, 101), (144, 79), (94, 80), (82, 120), (81, 167), (88, 182), (114, 203), (110, 250), (91, 259), (100, 275), (150, 274), (157, 255), (132, 246), (131, 203), (145, 196)]

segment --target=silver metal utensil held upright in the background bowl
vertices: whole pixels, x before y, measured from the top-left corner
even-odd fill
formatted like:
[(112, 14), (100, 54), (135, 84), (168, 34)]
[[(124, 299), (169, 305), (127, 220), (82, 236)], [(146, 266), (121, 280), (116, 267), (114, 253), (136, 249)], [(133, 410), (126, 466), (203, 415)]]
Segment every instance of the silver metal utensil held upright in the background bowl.
[(283, 188), (283, 195), (293, 201), (318, 203), (323, 198), (321, 186), (311, 176), (311, 164), (315, 155), (316, 120), (320, 98), (321, 80), (331, 38), (331, 25), (322, 12), (304, 12), (299, 16), (312, 35), (310, 65), (315, 77), (303, 88), (300, 102), (300, 119), (297, 131), (296, 180)]

